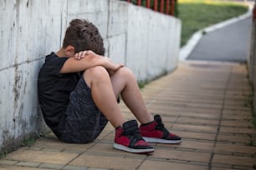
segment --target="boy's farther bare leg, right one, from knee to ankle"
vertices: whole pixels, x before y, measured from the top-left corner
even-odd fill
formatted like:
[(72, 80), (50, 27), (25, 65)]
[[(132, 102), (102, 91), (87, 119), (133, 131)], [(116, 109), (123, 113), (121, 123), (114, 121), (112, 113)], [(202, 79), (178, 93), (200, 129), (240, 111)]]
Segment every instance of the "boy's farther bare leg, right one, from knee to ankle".
[(121, 94), (126, 106), (141, 123), (153, 121), (153, 117), (148, 112), (146, 104), (141, 96), (136, 77), (127, 67), (120, 67), (110, 77), (115, 92), (115, 97)]

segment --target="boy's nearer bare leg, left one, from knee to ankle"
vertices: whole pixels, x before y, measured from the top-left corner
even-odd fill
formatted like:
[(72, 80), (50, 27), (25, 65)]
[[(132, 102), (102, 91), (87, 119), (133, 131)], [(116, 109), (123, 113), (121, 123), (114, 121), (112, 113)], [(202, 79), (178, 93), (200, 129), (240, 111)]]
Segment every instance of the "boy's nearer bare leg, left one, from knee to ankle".
[(91, 88), (95, 105), (117, 128), (125, 122), (124, 116), (120, 112), (120, 107), (116, 101), (115, 93), (110, 81), (109, 73), (104, 67), (91, 67), (84, 72), (84, 80)]

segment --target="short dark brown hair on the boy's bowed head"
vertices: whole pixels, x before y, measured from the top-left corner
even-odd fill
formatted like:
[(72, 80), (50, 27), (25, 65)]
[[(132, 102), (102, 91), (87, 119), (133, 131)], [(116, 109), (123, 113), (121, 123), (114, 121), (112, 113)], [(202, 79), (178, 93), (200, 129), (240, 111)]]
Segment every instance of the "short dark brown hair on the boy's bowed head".
[(63, 41), (63, 47), (68, 46), (74, 47), (74, 52), (91, 50), (102, 56), (105, 54), (103, 38), (98, 28), (84, 19), (74, 19), (69, 23)]

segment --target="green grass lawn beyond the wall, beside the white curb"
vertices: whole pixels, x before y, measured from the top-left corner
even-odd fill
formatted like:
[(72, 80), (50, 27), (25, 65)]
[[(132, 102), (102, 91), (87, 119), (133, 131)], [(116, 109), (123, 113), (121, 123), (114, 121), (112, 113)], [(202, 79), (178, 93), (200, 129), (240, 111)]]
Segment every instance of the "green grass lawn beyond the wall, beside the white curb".
[(181, 46), (187, 43), (194, 32), (248, 11), (247, 6), (238, 2), (213, 0), (179, 0), (178, 2), (178, 18), (182, 20)]

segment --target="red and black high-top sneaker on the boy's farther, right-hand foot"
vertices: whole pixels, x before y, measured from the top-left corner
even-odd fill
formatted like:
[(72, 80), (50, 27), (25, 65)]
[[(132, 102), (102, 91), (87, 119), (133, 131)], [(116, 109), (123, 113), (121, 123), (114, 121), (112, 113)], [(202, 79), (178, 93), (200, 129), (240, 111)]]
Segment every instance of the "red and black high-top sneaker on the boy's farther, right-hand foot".
[(182, 143), (182, 138), (169, 133), (159, 115), (154, 117), (153, 122), (142, 124), (140, 130), (147, 143)]

